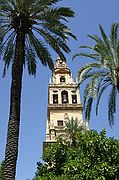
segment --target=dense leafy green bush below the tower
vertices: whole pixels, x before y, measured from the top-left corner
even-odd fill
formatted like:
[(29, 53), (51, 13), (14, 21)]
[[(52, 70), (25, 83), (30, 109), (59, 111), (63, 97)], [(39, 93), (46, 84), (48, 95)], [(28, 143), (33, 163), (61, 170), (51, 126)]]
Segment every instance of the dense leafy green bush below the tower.
[(105, 133), (78, 133), (75, 147), (60, 140), (48, 146), (43, 155), (45, 163), (40, 164), (35, 180), (118, 179), (119, 141), (107, 138)]

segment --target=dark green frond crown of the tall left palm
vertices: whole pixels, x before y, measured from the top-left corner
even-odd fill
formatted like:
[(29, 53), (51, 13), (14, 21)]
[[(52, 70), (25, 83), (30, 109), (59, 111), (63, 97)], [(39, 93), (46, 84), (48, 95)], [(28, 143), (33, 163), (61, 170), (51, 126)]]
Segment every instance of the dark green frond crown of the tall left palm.
[(14, 60), (18, 32), (25, 35), (24, 64), (30, 75), (36, 74), (37, 59), (53, 70), (49, 46), (61, 59), (65, 59), (63, 51), (70, 52), (66, 41), (69, 37), (76, 39), (66, 25), (68, 18), (74, 17), (75, 13), (68, 7), (56, 7), (59, 1), (1, 0), (0, 51), (5, 62), (3, 75)]

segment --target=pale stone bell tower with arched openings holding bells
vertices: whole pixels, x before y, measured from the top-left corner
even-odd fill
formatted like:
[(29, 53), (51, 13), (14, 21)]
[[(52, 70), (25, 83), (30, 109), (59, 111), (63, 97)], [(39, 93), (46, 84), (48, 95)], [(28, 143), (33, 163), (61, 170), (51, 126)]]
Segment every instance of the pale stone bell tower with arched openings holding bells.
[(68, 118), (77, 117), (82, 122), (82, 106), (77, 86), (66, 62), (57, 58), (48, 87), (46, 143), (55, 142), (59, 135), (64, 134)]

